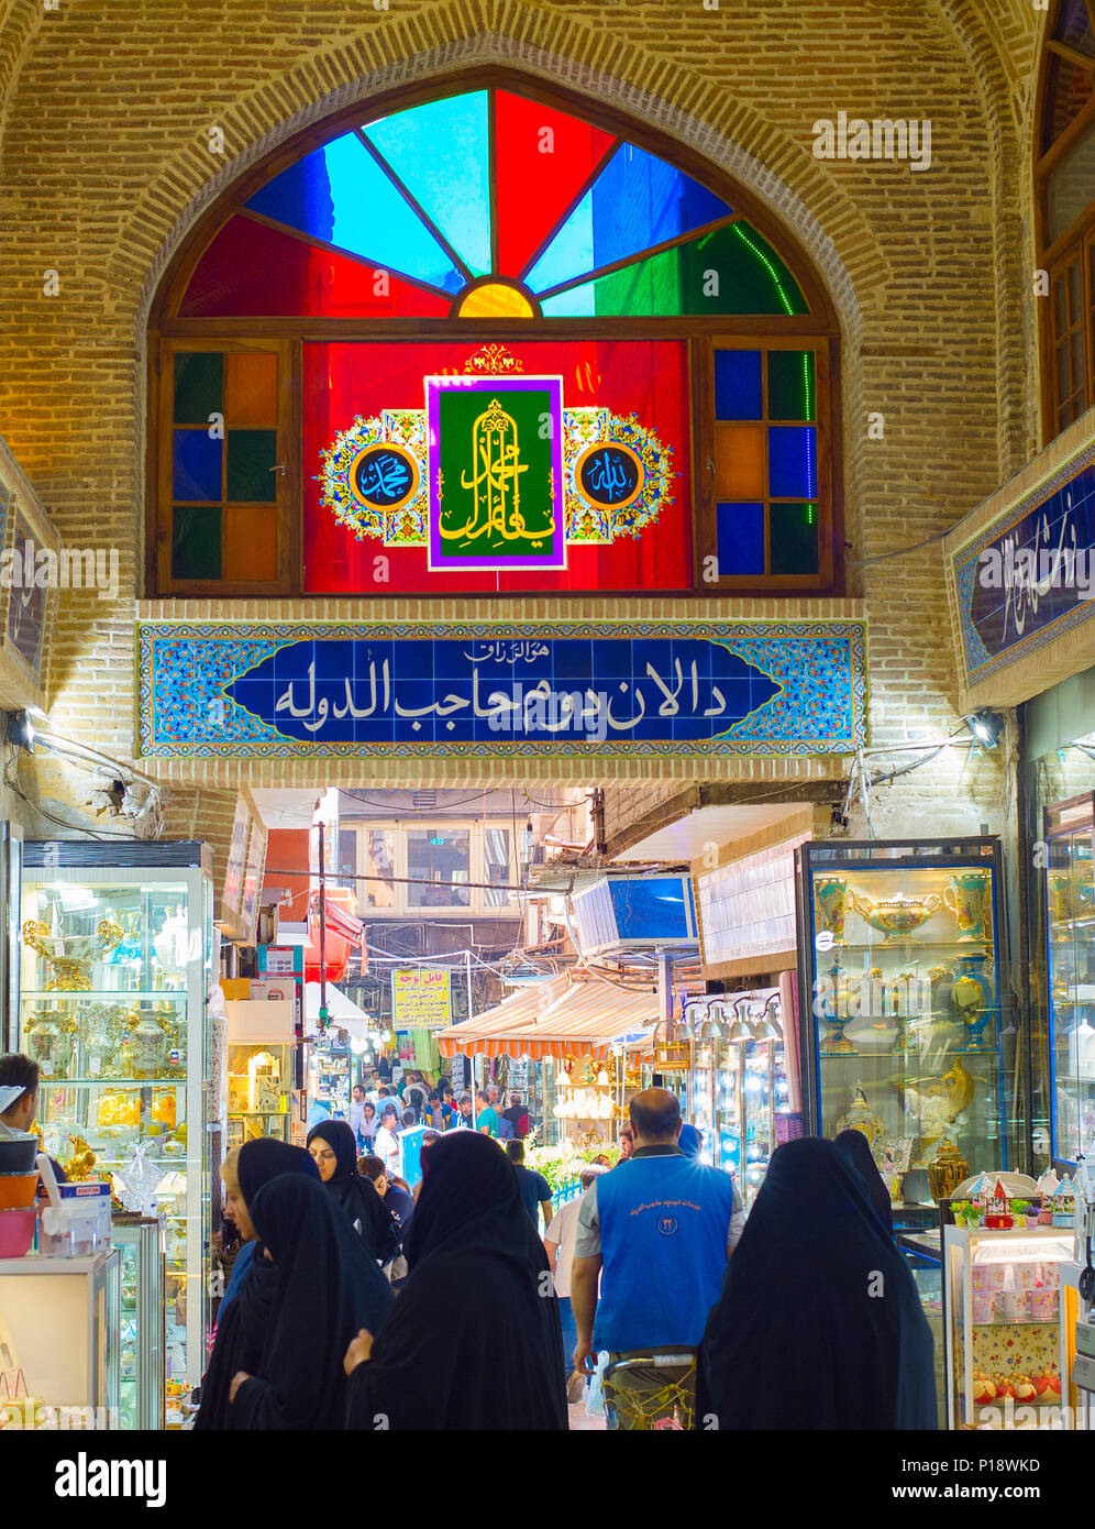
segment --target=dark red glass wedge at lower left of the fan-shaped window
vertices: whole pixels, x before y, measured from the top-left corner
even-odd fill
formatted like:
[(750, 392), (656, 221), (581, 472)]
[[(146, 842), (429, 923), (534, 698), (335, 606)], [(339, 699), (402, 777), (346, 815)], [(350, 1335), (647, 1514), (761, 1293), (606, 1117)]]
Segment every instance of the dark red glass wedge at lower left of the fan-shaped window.
[(452, 300), (377, 266), (232, 217), (202, 255), (180, 318), (443, 318)]

